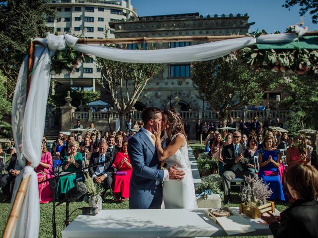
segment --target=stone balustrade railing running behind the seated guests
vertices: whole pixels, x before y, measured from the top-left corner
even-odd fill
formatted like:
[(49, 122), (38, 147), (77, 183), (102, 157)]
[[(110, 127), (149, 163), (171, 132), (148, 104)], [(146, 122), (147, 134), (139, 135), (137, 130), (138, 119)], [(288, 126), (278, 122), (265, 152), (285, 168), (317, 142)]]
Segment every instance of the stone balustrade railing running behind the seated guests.
[[(181, 118), (183, 120), (218, 120), (217, 115), (214, 111), (180, 111)], [(257, 117), (260, 120), (265, 120), (268, 116), (271, 116), (272, 119), (287, 119), (290, 116), (290, 111), (288, 110), (269, 110), (264, 111), (254, 111), (247, 109), (234, 110), (230, 113), (231, 117), (234, 119), (243, 119), (246, 120), (253, 119)], [(126, 119), (141, 120), (141, 112), (127, 113)], [(87, 121), (98, 121), (98, 120), (110, 120), (114, 121), (116, 118), (119, 118), (117, 112), (74, 112), (72, 115), (73, 120), (87, 120)]]

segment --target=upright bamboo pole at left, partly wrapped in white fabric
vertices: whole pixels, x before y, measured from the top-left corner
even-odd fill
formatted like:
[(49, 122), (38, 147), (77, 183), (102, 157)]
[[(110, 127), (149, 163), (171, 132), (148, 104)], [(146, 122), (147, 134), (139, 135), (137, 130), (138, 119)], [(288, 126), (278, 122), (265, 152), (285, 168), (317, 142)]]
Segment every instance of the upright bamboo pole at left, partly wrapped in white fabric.
[[(30, 73), (33, 69), (33, 55), (34, 55), (34, 44), (33, 42), (30, 42), (29, 44), (29, 51), (28, 51), (28, 74), (27, 74), (27, 81), (26, 81), (26, 98), (29, 94), (30, 90), (30, 84), (31, 84), (31, 76)], [(26, 161), (26, 166), (30, 166), (31, 163), (29, 161)], [(8, 220), (5, 225), (5, 229), (3, 232), (2, 238), (11, 238), (13, 231), (15, 229), (16, 222), (18, 220), (20, 210), (25, 198), (26, 190), (28, 189), (30, 182), (30, 176), (26, 177), (25, 179), (21, 180), (20, 186), (18, 188), (18, 191), (16, 193), (12, 209), (10, 211)]]

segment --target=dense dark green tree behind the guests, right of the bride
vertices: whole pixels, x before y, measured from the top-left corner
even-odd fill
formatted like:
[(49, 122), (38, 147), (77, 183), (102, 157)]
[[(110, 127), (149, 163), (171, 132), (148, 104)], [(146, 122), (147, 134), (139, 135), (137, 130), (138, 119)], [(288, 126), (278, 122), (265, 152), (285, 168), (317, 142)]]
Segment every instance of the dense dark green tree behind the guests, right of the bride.
[(235, 54), (192, 63), (193, 86), (211, 105), (222, 126), (228, 115), (241, 106), (262, 102), (263, 92), (278, 84), (277, 74), (251, 71)]

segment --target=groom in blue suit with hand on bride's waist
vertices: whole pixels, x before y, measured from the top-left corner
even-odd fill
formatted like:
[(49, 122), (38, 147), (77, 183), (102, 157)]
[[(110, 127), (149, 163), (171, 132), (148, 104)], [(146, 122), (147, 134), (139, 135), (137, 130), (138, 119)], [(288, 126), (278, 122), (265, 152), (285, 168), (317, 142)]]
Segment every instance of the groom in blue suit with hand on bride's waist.
[(182, 179), (184, 172), (173, 167), (160, 170), (156, 137), (152, 133), (157, 125), (161, 124), (160, 109), (146, 108), (142, 113), (142, 119), (144, 127), (128, 142), (128, 155), (133, 167), (129, 187), (129, 209), (160, 209), (161, 181)]

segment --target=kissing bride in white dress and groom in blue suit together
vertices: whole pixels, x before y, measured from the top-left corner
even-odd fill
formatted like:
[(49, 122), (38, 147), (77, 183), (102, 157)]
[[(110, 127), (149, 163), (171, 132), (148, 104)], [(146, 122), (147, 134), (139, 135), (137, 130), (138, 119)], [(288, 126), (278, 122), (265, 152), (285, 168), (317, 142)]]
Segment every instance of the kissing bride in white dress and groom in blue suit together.
[[(187, 139), (180, 115), (146, 108), (144, 127), (129, 139), (128, 154), (133, 167), (129, 209), (196, 208), (196, 197), (188, 156)], [(161, 130), (167, 139), (161, 142)], [(167, 170), (161, 170), (166, 163)], [(163, 185), (162, 185), (163, 182)]]

